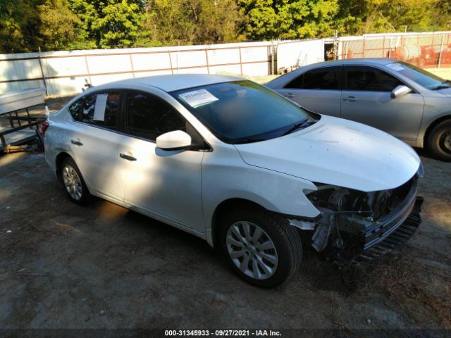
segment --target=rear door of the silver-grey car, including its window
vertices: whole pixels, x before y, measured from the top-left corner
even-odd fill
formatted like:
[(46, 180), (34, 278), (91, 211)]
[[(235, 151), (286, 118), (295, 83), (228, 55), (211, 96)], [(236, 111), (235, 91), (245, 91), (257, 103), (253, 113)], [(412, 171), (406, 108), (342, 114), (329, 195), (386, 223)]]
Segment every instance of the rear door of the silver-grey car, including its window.
[(342, 66), (307, 70), (279, 92), (300, 106), (340, 117)]

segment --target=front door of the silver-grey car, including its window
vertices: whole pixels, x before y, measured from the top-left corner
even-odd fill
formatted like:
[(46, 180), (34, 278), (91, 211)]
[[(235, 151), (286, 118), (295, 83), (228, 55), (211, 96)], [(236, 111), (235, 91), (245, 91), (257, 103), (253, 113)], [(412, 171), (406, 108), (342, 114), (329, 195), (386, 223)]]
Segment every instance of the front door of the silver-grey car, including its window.
[(407, 142), (418, 136), (424, 99), (412, 92), (393, 99), (391, 92), (404, 82), (382, 69), (366, 65), (345, 66), (342, 118), (371, 125)]

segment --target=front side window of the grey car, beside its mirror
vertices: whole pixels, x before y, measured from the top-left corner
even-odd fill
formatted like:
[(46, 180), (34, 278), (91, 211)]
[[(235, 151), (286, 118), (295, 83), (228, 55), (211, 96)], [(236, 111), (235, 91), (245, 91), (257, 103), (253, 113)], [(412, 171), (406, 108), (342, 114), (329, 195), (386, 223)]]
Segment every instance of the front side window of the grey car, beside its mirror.
[(347, 90), (391, 92), (403, 84), (396, 77), (378, 68), (350, 65), (346, 67)]

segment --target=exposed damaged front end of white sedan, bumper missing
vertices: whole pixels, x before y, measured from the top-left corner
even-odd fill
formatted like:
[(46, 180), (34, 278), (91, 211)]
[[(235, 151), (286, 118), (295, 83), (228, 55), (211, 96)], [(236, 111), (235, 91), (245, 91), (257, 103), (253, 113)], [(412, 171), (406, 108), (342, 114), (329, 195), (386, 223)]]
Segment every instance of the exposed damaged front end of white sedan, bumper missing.
[(329, 184), (307, 197), (321, 214), (314, 220), (290, 220), (311, 230), (311, 246), (335, 259), (365, 261), (391, 251), (412, 237), (421, 223), (417, 196), (419, 173), (400, 187), (360, 192)]

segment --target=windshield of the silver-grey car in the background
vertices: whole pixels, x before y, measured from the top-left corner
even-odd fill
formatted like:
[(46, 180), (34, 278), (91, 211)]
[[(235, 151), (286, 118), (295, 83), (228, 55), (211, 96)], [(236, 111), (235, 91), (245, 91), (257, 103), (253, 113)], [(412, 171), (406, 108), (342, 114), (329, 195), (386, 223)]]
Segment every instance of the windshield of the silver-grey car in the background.
[(443, 80), (441, 77), (433, 75), (427, 70), (418, 68), (410, 63), (395, 62), (388, 64), (387, 67), (405, 77), (409, 77), (410, 80), (413, 80), (427, 89), (437, 90), (451, 87), (450, 81)]

